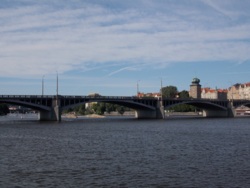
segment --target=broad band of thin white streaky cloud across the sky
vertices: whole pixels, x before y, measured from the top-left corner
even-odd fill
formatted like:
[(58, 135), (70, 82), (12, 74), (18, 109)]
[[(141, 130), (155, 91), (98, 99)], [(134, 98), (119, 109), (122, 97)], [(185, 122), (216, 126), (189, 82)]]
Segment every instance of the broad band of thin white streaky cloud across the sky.
[[(139, 3), (135, 7), (115, 4), (113, 9), (99, 1), (76, 2), (79, 6), (26, 1), (25, 6), (2, 8), (0, 74), (35, 76), (128, 62), (111, 76), (137, 66), (150, 69), (171, 63), (249, 58), (249, 22), (218, 27), (218, 16), (213, 17), (212, 11), (204, 11), (199, 18), (199, 1), (191, 5), (138, 1), (144, 9)], [(224, 16), (239, 14), (217, 1), (203, 2)], [(169, 12), (162, 11), (162, 6)], [(215, 27), (206, 25), (208, 19)]]

